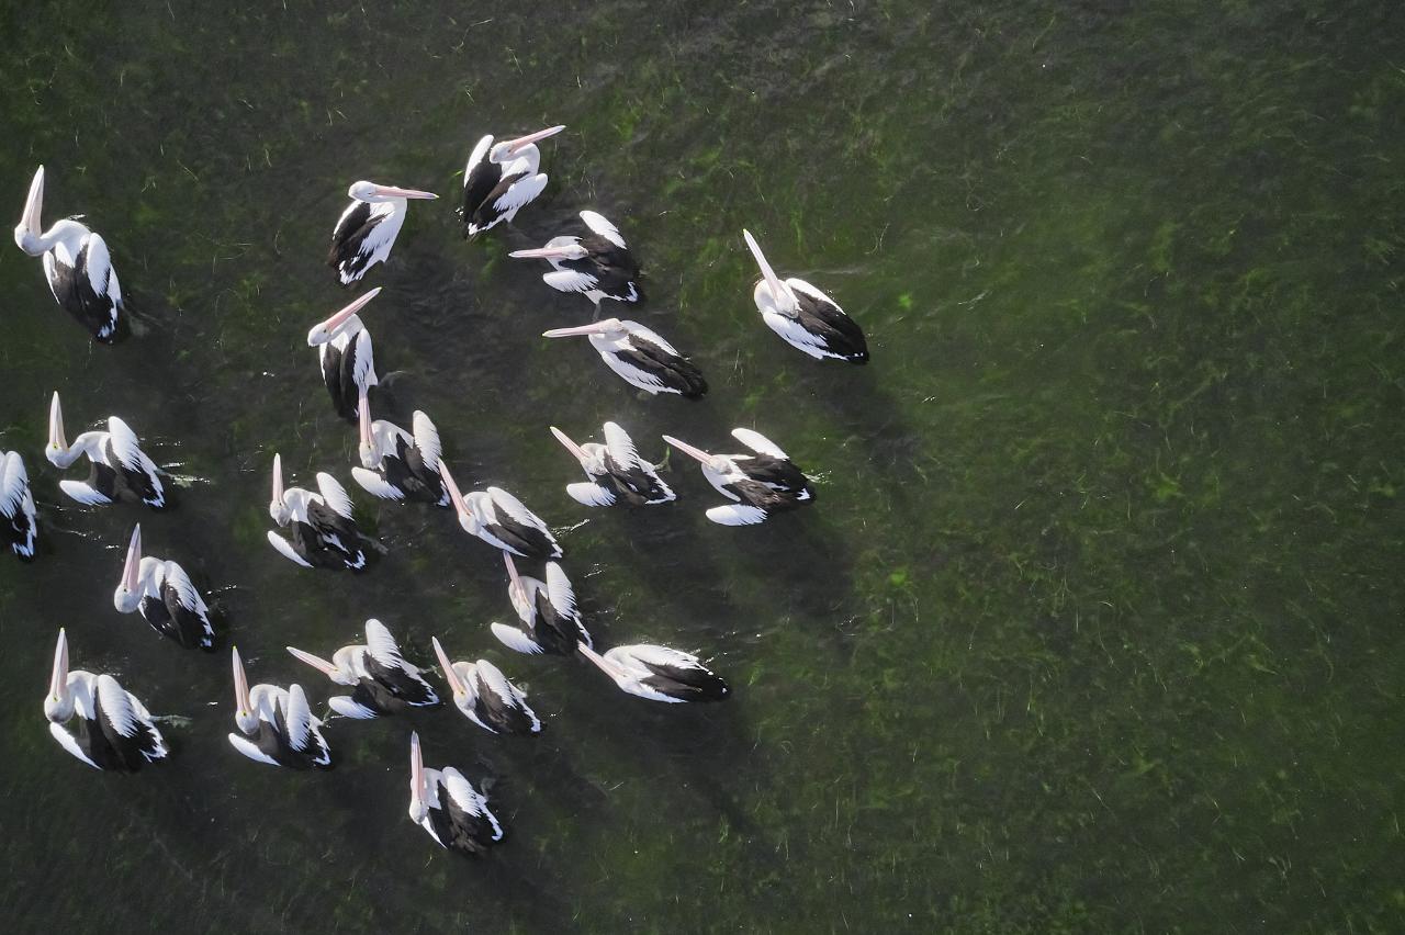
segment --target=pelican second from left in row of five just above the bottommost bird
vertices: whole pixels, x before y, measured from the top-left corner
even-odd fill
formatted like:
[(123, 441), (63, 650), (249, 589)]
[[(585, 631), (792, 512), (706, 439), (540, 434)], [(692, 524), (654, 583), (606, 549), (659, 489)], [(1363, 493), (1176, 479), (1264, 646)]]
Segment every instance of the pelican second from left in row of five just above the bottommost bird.
[[(322, 720), (308, 708), (302, 685), (287, 689), (254, 685), (250, 691), (239, 647), (235, 660), (235, 726), (229, 745), (254, 762), (294, 769), (332, 768), (332, 748), (322, 736)], [(242, 734), (242, 736), (240, 736)]]

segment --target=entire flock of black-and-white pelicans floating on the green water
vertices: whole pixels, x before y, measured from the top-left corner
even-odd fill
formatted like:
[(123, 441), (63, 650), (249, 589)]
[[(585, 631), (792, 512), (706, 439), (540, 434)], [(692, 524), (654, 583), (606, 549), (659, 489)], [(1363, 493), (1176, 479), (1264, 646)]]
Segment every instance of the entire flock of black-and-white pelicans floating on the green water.
[[(547, 187), (540, 173), (537, 143), (559, 133), (552, 126), (517, 139), (479, 140), (464, 168), (462, 220), (466, 237), (502, 223)], [(409, 201), (434, 194), (358, 181), (348, 190), (351, 204), (332, 234), (329, 265), (341, 285), (358, 282), (384, 263), (405, 223)], [(111, 344), (128, 334), (122, 291), (103, 237), (79, 218), (42, 229), (44, 167), (34, 175), (24, 215), (14, 230), (15, 243), (42, 257), (53, 298), (93, 337)], [(600, 302), (638, 302), (639, 265), (620, 230), (593, 211), (580, 212), (586, 233), (552, 237), (537, 250), (518, 250), (518, 258), (547, 260), (552, 271), (542, 279), (562, 292), (577, 292), (596, 306)], [(771, 270), (750, 233), (746, 244), (762, 270), (754, 300), (766, 324), (798, 350), (816, 359), (833, 358), (864, 364), (868, 350), (863, 331), (825, 293), (801, 279), (781, 279)], [(416, 501), (452, 508), (462, 528), (503, 556), (507, 594), (517, 622), (493, 623), (493, 635), (518, 653), (570, 656), (580, 653), (625, 692), (660, 702), (707, 702), (728, 695), (728, 685), (695, 656), (665, 646), (618, 646), (599, 653), (576, 609), (570, 580), (556, 559), (562, 549), (551, 529), (517, 497), (500, 487), (468, 494), (459, 491), (441, 459), (438, 431), (423, 411), (410, 430), (371, 418), (371, 389), (377, 386), (371, 333), (358, 313), (381, 292), (371, 289), (315, 326), (308, 344), (318, 348), (323, 382), (336, 411), (355, 423), (360, 432), (360, 465), (351, 476), (367, 493), (395, 501)], [(688, 399), (707, 393), (707, 380), (663, 337), (636, 321), (596, 320), (580, 327), (555, 329), (545, 337), (586, 336), (606, 365), (646, 393), (677, 393)], [(613, 421), (603, 428), (604, 442), (576, 444), (552, 427), (561, 444), (579, 460), (586, 480), (566, 486), (580, 504), (608, 507), (655, 505), (676, 498), (655, 465), (642, 458), (628, 432)], [(665, 435), (677, 451), (695, 458), (702, 475), (731, 503), (707, 511), (724, 525), (752, 525), (774, 512), (813, 500), (805, 475), (764, 435), (738, 428), (732, 432), (747, 453), (712, 453)], [(118, 418), (105, 428), (81, 432), (73, 442), (63, 431), (59, 394), (49, 409), (49, 463), (63, 470), (83, 458), (87, 477), (66, 477), (62, 491), (86, 505), (114, 503), (167, 505), (163, 472), (142, 451), (136, 432)], [(351, 498), (329, 473), (318, 473), (316, 491), (285, 487), (282, 462), (273, 460), (273, 497), (268, 512), (287, 529), (268, 542), (280, 555), (302, 567), (365, 569), (374, 546), (357, 529)], [(15, 555), (32, 559), (38, 524), (28, 476), (18, 452), (0, 452), (0, 535)], [(518, 573), (517, 559), (540, 562), (542, 578)], [(215, 649), (209, 609), (190, 576), (176, 562), (143, 556), (140, 524), (132, 531), (121, 580), (112, 594), (122, 614), (139, 612), (160, 635), (184, 647)], [(541, 720), (527, 705), (525, 694), (488, 660), (451, 661), (433, 639), (438, 670), (452, 692), (454, 705), (479, 727), (506, 734), (534, 734)], [(365, 643), (344, 646), (322, 658), (288, 647), (298, 660), (350, 689), (327, 701), (334, 715), (368, 719), (406, 708), (440, 705), (438, 692), (424, 671), (400, 654), (384, 623), (365, 622)], [(232, 649), (235, 726), (229, 743), (244, 757), (281, 767), (329, 768), (332, 751), (323, 736), (323, 719), (312, 713), (301, 685), (249, 687), (239, 650)], [(136, 771), (169, 755), (150, 712), (115, 678), (69, 668), (69, 644), (59, 630), (53, 674), (44, 713), (55, 740), (76, 758), (98, 769)], [(419, 736), (410, 737), (410, 818), (443, 847), (482, 854), (503, 837), (488, 800), (452, 767), (426, 769)]]

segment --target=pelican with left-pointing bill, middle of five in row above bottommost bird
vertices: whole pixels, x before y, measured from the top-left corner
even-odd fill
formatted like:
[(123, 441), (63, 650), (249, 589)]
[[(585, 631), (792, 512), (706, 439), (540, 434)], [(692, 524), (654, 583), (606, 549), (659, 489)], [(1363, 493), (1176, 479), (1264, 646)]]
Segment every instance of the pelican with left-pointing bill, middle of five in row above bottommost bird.
[(365, 622), (365, 646), (343, 646), (332, 654), (330, 663), (291, 646), (288, 651), (337, 685), (355, 687), (350, 695), (327, 699), (332, 710), (343, 717), (367, 720), (399, 713), (407, 706), (434, 708), (440, 703), (420, 670), (400, 656), (391, 630), (375, 618)]

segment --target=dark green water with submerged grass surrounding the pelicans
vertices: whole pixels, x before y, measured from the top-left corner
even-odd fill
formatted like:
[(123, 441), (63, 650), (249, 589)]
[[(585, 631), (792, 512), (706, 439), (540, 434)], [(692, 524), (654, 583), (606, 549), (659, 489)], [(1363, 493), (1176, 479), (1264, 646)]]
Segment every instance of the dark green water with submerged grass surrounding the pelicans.
[[(1405, 927), (1401, 284), (1405, 24), (1387, 3), (8, 4), (4, 223), (35, 164), (152, 330), (94, 348), (0, 250), (0, 445), (49, 552), (0, 560), (0, 879), (48, 932), (1234, 931)], [(133, 4), (135, 6), (135, 4)], [(438, 8), (434, 8), (434, 7)], [(483, 132), (547, 124), (548, 192), (464, 244)], [(700, 650), (736, 688), (648, 705), (502, 651), (500, 563), (444, 514), (354, 491), (389, 555), (299, 571), (264, 542), (268, 465), (348, 482), (354, 432), (306, 329), (357, 178), (431, 188), (368, 312), (385, 413), (422, 407), (465, 484), (563, 533), (599, 642)], [(636, 246), (632, 314), (700, 404), (638, 399), (589, 305), (507, 250), (582, 208)], [(11, 218), (13, 216), (13, 218)], [(868, 331), (819, 365), (752, 307), (750, 227)], [(164, 515), (74, 508), (42, 459), (110, 413), (197, 477)], [(725, 529), (587, 511), (548, 424), (646, 453), (754, 425), (815, 508)], [(350, 482), (348, 482), (350, 483)], [(488, 656), (548, 720), (336, 722), (339, 768), (239, 758), (228, 658), (111, 591), (148, 548), (215, 592), (253, 681), (368, 615), (429, 661)], [(582, 525), (576, 525), (582, 524)], [(167, 727), (174, 760), (83, 768), (41, 713), (53, 633)], [(406, 737), (490, 778), (510, 841), (413, 827)]]

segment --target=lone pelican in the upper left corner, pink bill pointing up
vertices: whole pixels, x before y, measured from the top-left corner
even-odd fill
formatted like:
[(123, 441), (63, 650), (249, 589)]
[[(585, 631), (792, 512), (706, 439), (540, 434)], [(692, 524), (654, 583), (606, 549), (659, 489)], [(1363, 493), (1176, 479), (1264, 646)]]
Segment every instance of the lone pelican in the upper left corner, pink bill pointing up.
[(76, 215), (44, 233), (44, 166), (34, 173), (24, 215), (14, 229), (14, 241), (31, 257), (44, 257), (44, 275), (53, 299), (103, 344), (114, 344), (128, 333), (122, 286), (103, 234), (94, 233)]

